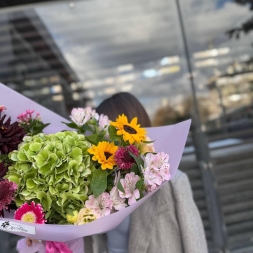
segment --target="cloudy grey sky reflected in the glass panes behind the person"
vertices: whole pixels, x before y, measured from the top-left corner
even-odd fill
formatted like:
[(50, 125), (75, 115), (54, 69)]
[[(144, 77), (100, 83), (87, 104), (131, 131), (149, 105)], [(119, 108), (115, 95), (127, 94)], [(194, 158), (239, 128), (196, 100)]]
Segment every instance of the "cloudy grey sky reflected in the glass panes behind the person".
[[(221, 72), (233, 60), (252, 55), (252, 35), (239, 41), (225, 35), (251, 17), (246, 7), (221, 0), (180, 1), (191, 55), (229, 48), (225, 55), (215, 56), (225, 62), (218, 65)], [(191, 94), (174, 1), (90, 0), (74, 5), (58, 2), (35, 10), (67, 62), (89, 86), (87, 94), (94, 97), (95, 106), (111, 93), (128, 89), (152, 116), (160, 106), (176, 105)], [(171, 63), (173, 56), (179, 61)], [(169, 60), (162, 66), (164, 58)], [(213, 66), (195, 68), (194, 64), (212, 58), (192, 60), (198, 94), (208, 96), (205, 82), (213, 75)], [(119, 66), (125, 65), (132, 68), (119, 71)]]

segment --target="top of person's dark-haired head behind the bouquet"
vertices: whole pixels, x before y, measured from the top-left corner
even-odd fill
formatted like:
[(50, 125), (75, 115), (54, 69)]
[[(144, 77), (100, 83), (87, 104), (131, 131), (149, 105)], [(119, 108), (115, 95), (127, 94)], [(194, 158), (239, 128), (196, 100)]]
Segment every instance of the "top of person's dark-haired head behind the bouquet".
[(138, 123), (142, 127), (150, 127), (148, 114), (139, 100), (128, 92), (119, 92), (105, 99), (96, 109), (98, 114), (105, 114), (110, 120), (125, 114), (129, 121), (134, 117), (138, 118)]

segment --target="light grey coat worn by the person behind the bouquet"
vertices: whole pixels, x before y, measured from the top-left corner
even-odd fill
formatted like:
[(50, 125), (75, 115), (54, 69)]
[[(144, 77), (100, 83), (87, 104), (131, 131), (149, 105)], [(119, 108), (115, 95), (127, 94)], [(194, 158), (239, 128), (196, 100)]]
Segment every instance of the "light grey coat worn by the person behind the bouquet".
[[(106, 235), (85, 238), (86, 253), (106, 252)], [(129, 253), (207, 253), (186, 174), (178, 171), (131, 215)]]

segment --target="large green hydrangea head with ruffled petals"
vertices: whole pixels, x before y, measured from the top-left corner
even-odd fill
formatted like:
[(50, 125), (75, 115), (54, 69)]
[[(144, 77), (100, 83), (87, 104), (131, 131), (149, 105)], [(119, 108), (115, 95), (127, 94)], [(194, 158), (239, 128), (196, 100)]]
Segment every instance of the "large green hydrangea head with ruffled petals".
[(76, 132), (26, 136), (6, 178), (18, 185), (17, 206), (35, 201), (43, 206), (50, 223), (65, 223), (66, 215), (80, 210), (87, 194), (93, 162), (91, 144)]

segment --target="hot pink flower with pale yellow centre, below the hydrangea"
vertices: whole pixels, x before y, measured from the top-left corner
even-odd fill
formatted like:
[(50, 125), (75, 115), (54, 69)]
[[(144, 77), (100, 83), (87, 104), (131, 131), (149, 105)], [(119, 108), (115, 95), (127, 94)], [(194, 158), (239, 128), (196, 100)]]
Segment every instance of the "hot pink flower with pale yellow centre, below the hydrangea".
[(43, 208), (41, 204), (35, 204), (33, 201), (31, 205), (24, 203), (14, 214), (14, 219), (22, 220), (25, 222), (44, 224)]

